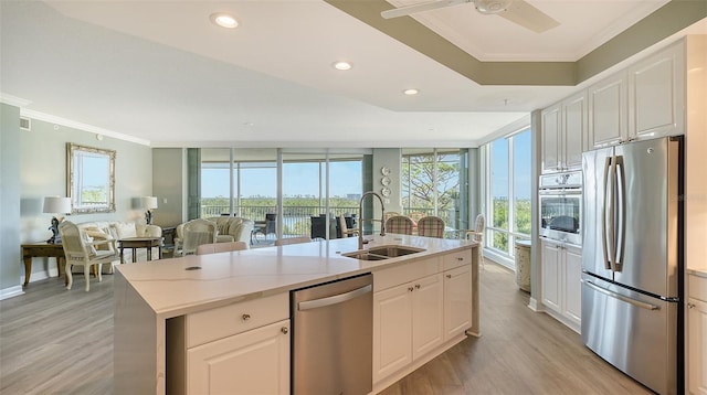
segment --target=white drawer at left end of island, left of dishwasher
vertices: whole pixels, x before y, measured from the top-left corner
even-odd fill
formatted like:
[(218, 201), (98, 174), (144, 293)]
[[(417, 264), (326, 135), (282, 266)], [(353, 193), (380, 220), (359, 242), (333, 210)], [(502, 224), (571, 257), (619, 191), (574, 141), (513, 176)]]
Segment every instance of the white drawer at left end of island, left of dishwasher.
[(187, 316), (187, 348), (289, 318), (287, 292)]

